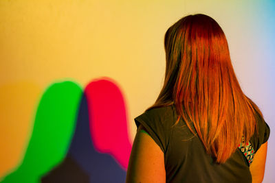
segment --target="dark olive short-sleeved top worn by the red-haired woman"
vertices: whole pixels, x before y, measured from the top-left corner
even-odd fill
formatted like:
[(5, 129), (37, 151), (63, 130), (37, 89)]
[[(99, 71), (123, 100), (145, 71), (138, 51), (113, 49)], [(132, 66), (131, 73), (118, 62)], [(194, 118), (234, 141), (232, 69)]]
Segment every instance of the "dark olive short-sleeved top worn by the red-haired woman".
[[(153, 108), (135, 118), (164, 152), (166, 182), (252, 182), (248, 162), (238, 149), (224, 164), (216, 164), (206, 154), (198, 136), (194, 136), (182, 119), (177, 121), (175, 106)], [(270, 135), (270, 127), (258, 118), (259, 136), (250, 143), (256, 152)], [(174, 126), (173, 126), (174, 125)]]

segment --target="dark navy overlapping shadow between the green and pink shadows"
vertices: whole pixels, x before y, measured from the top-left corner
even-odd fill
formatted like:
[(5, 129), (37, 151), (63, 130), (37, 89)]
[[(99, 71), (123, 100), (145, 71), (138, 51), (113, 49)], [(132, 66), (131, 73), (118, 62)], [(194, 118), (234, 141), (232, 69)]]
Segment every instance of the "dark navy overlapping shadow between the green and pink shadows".
[[(69, 163), (69, 160), (74, 163)], [(41, 182), (81, 182), (75, 169), (89, 175), (89, 182), (124, 182), (126, 172), (109, 154), (101, 154), (94, 148), (89, 130), (87, 97), (83, 95), (78, 112), (76, 131), (65, 161), (41, 179)], [(82, 180), (88, 182), (87, 180)]]

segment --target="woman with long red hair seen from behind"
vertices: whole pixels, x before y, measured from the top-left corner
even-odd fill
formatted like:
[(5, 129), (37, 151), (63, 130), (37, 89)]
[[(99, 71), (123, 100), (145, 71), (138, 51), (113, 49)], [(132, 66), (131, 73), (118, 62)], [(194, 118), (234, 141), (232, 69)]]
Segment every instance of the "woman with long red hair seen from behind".
[(164, 86), (135, 118), (126, 182), (262, 182), (270, 128), (241, 90), (221, 27), (186, 16), (164, 48)]

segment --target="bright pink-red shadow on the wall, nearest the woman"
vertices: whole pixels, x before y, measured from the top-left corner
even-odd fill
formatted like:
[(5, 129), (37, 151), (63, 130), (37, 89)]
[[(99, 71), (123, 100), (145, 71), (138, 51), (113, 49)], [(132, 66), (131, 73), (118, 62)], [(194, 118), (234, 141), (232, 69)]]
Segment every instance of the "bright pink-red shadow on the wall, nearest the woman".
[(132, 145), (120, 88), (113, 80), (104, 77), (90, 82), (85, 95), (94, 147), (101, 153), (110, 154), (123, 169), (127, 169)]

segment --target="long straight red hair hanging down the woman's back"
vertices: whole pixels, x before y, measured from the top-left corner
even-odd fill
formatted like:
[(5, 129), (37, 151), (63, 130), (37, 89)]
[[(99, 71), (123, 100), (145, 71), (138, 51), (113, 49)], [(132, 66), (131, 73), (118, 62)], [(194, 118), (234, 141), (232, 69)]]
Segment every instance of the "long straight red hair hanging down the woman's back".
[(155, 104), (175, 104), (178, 120), (194, 125), (206, 152), (218, 163), (248, 142), (257, 129), (254, 114), (263, 115), (241, 90), (219, 24), (210, 16), (185, 16), (164, 36), (166, 72)]

